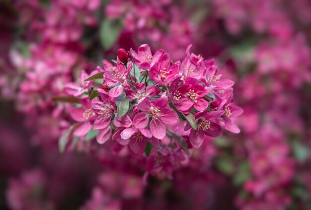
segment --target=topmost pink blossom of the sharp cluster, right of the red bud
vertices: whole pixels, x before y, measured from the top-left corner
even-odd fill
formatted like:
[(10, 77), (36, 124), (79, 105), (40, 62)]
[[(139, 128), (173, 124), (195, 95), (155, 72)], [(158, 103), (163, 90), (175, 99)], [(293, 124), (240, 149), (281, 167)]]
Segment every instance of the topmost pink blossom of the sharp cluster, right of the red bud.
[(154, 64), (160, 59), (160, 57), (164, 53), (163, 50), (158, 50), (153, 56), (151, 54), (150, 47), (147, 44), (143, 44), (138, 48), (138, 54), (136, 54), (135, 51), (132, 50), (132, 48), (130, 52), (136, 66), (138, 66), (142, 70), (149, 70), (152, 66), (154, 66)]

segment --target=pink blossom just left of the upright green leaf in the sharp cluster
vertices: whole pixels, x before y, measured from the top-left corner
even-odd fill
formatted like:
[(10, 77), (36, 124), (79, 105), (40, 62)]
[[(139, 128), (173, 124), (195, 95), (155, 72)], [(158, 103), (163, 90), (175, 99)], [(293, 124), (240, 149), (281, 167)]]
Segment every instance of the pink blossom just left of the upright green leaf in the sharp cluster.
[(97, 114), (97, 119), (94, 122), (94, 130), (105, 129), (111, 122), (111, 114), (116, 110), (114, 99), (102, 89), (97, 89), (99, 92), (99, 100), (92, 100), (92, 110)]

